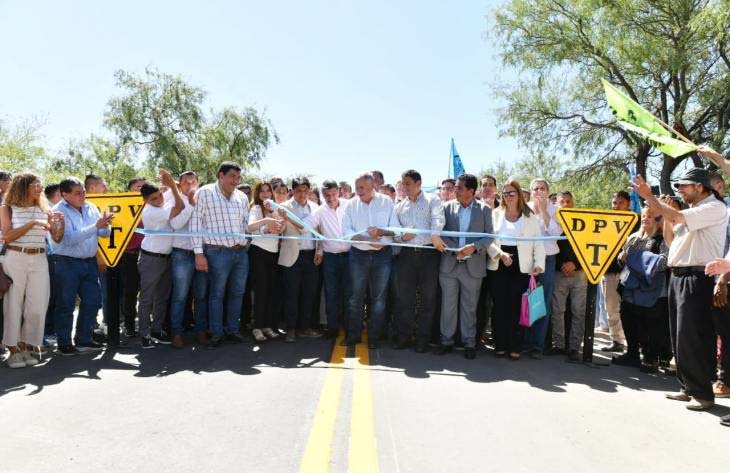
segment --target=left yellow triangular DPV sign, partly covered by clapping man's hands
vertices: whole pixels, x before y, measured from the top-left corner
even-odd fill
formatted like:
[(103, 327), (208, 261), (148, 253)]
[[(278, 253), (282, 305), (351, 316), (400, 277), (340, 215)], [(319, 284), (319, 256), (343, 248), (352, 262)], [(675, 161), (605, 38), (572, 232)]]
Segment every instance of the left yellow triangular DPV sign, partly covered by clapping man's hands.
[(86, 200), (96, 205), (102, 214), (104, 212), (114, 214), (111, 235), (107, 238), (99, 238), (99, 253), (107, 266), (113, 268), (119, 262), (134, 235), (134, 230), (142, 215), (144, 200), (139, 192), (89, 194), (86, 196)]

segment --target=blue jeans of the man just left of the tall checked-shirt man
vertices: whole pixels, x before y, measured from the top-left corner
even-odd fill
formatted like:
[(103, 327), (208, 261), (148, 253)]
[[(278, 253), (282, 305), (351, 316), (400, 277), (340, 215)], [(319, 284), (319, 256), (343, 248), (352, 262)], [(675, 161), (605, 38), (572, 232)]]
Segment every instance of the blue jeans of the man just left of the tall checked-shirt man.
[(182, 323), (185, 317), (185, 304), (188, 301), (190, 287), (195, 299), (195, 331), (205, 332), (208, 329), (208, 281), (206, 274), (195, 270), (195, 254), (192, 251), (172, 249), (172, 295), (170, 296), (170, 328), (172, 335), (182, 335)]

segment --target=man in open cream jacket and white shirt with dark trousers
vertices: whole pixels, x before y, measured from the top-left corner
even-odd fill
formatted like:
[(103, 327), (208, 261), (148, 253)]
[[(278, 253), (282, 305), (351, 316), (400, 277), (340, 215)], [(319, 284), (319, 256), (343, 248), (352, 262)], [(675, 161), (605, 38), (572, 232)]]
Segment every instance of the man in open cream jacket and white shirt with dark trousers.
[[(311, 184), (304, 176), (292, 179), (292, 198), (282, 207), (287, 208), (302, 221), (318, 208), (309, 200)], [(279, 265), (284, 267), (284, 284), (286, 285), (286, 341), (295, 342), (297, 331), (299, 336), (307, 338), (321, 337), (322, 334), (311, 327), (315, 297), (319, 287), (319, 270), (315, 261), (316, 242), (306, 228), (286, 219), (285, 236), (299, 236), (304, 239), (285, 239), (281, 241)], [(272, 268), (273, 269), (273, 268)]]

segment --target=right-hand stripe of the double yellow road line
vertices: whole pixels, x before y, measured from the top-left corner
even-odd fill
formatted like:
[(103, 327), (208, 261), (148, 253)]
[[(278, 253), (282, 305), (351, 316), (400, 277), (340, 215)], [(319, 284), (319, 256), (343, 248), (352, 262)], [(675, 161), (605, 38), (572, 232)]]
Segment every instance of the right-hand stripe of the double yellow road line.
[(367, 333), (355, 347), (360, 361), (355, 365), (352, 388), (352, 419), (350, 425), (350, 473), (378, 471), (378, 455), (375, 445), (375, 419), (373, 417), (373, 389), (370, 382), (370, 353)]

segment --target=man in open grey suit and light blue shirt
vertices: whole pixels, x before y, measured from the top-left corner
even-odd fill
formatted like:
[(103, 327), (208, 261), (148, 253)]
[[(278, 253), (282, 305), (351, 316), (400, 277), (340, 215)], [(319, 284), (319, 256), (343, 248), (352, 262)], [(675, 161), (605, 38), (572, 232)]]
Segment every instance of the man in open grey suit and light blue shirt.
[[(446, 231), (492, 233), (492, 210), (476, 200), (477, 178), (462, 174), (456, 181), (456, 200), (444, 203)], [(434, 238), (434, 246), (442, 252), (439, 283), (441, 284), (441, 346), (436, 354), (453, 349), (457, 320), (461, 316), (461, 340), (464, 358), (476, 357), (476, 309), (482, 278), (487, 275), (487, 247), (493, 238)], [(444, 251), (444, 248), (458, 251)], [(458, 309), (457, 309), (458, 304)]]

